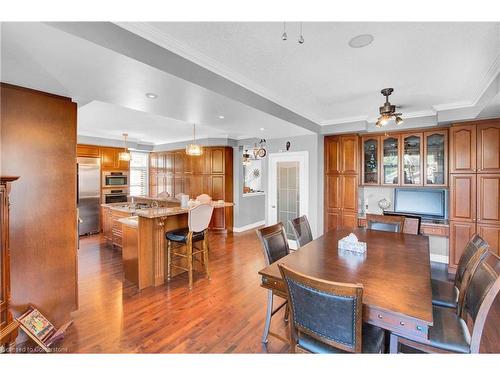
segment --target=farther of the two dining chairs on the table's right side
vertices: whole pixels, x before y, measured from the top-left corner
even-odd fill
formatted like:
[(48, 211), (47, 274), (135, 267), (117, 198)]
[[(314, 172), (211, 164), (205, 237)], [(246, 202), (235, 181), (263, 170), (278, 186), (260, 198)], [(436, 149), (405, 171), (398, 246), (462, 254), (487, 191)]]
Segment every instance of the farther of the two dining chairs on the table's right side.
[(433, 305), (457, 308), (459, 292), (470, 281), (470, 278), (465, 278), (466, 271), (475, 267), (475, 263), (479, 262), (481, 254), (487, 249), (488, 243), (475, 234), (460, 256), (454, 281), (431, 279)]

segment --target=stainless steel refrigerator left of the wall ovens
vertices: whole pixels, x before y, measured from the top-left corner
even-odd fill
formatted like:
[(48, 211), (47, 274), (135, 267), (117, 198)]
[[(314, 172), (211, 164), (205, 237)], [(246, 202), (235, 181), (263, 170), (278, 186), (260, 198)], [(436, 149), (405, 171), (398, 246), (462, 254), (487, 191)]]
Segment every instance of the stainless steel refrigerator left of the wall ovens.
[(98, 158), (78, 158), (78, 234), (99, 232), (101, 173)]

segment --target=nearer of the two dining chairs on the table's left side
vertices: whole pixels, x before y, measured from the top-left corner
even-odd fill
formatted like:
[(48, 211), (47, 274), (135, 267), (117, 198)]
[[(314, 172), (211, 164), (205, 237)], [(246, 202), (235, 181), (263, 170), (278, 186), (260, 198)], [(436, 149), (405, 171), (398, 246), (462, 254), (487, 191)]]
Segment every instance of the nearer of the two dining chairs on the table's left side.
[[(264, 259), (266, 266), (280, 260), (281, 258), (290, 254), (290, 248), (288, 247), (288, 239), (286, 238), (285, 228), (282, 223), (270, 225), (265, 228), (260, 228), (255, 230), (259, 240), (262, 244), (264, 250)], [(278, 296), (284, 299), (284, 302), (280, 303), (279, 306), (273, 310), (274, 296)], [(271, 332), (271, 318), (279, 310), (285, 307), (285, 321), (288, 321), (289, 309), (287, 306), (286, 294), (281, 294), (279, 292), (273, 292), (272, 290), (267, 291), (267, 309), (266, 309), (266, 322), (264, 325), (264, 333), (262, 335), (262, 342), (264, 344), (268, 341), (268, 336), (276, 337), (277, 339), (288, 343), (288, 340), (278, 335), (277, 333)]]

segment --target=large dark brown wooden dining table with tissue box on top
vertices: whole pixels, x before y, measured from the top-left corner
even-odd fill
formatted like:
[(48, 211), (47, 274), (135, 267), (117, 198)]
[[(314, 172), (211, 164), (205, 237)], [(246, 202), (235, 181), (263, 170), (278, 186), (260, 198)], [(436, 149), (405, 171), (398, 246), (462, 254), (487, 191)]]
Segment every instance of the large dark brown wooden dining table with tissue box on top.
[[(367, 243), (366, 253), (338, 249), (338, 241), (350, 233)], [(433, 325), (428, 237), (361, 228), (329, 231), (259, 271), (263, 288), (286, 296), (278, 263), (316, 278), (362, 284), (366, 323), (428, 339)]]

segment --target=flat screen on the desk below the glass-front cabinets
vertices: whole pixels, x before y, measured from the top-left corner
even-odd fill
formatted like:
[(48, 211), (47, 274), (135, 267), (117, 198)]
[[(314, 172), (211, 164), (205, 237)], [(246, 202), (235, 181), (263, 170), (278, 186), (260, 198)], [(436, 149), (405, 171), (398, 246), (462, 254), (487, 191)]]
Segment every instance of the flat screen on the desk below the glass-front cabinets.
[(394, 212), (431, 219), (445, 219), (446, 190), (396, 188)]

